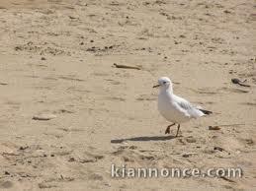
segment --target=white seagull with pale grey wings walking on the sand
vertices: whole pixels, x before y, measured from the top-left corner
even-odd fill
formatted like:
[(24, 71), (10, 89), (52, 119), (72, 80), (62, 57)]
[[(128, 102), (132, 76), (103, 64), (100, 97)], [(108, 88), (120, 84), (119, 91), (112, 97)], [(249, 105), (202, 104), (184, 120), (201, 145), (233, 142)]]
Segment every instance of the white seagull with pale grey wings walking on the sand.
[(191, 104), (185, 98), (173, 94), (172, 81), (168, 77), (158, 79), (158, 85), (153, 88), (160, 88), (158, 95), (158, 110), (160, 114), (172, 122), (167, 126), (165, 134), (170, 134), (170, 127), (178, 124), (176, 137), (179, 134), (180, 124), (189, 121), (192, 118), (198, 118), (213, 113), (199, 106)]

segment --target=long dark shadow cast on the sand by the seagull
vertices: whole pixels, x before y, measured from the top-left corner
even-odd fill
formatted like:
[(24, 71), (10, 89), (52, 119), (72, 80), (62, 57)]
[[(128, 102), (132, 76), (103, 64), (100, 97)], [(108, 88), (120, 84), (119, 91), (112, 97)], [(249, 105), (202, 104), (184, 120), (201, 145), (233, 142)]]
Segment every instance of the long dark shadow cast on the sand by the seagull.
[(131, 137), (127, 139), (113, 139), (111, 140), (111, 143), (113, 144), (119, 144), (126, 141), (168, 141), (172, 140), (174, 138), (177, 138), (175, 136), (169, 135), (169, 136), (141, 136), (141, 137)]

